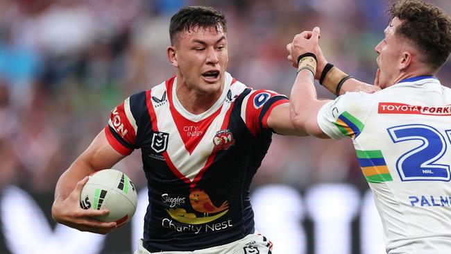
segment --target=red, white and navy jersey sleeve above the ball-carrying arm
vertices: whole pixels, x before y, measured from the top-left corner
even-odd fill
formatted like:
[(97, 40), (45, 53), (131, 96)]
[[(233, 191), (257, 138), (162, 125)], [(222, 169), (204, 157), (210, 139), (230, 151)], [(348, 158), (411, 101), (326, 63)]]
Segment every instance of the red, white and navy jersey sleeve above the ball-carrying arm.
[(139, 148), (137, 136), (138, 127), (142, 125), (143, 103), (144, 92), (128, 97), (111, 110), (108, 125), (105, 126), (105, 135), (112, 148), (122, 155), (129, 155)]

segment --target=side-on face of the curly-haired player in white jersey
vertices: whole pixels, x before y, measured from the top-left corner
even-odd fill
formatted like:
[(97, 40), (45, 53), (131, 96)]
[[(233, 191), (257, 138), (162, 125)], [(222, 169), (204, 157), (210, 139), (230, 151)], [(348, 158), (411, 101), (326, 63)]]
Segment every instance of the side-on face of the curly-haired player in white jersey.
[(394, 17), (384, 30), (384, 40), (375, 47), (375, 51), (379, 54), (377, 65), (380, 69), (379, 84), (381, 88), (393, 85), (399, 71), (399, 63), (402, 60), (402, 41), (395, 35), (395, 31), (400, 24), (402, 24), (400, 19)]

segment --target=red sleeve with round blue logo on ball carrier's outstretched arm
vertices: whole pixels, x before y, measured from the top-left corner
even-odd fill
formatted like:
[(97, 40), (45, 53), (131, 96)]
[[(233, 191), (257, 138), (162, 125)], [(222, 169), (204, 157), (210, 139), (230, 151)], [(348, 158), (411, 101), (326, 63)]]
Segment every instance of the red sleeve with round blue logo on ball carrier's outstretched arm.
[[(241, 104), (241, 118), (246, 122), (250, 133), (269, 129), (268, 117), (275, 106), (289, 103), (287, 96), (271, 90), (251, 90)], [(272, 131), (272, 130), (271, 130)]]

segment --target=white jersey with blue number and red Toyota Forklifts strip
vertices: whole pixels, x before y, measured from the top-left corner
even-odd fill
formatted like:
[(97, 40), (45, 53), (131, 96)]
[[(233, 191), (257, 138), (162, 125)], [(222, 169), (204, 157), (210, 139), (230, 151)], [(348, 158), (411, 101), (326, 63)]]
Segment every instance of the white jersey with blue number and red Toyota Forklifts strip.
[(346, 93), (318, 112), (351, 137), (373, 191), (388, 253), (451, 253), (451, 90), (432, 76), (374, 94)]

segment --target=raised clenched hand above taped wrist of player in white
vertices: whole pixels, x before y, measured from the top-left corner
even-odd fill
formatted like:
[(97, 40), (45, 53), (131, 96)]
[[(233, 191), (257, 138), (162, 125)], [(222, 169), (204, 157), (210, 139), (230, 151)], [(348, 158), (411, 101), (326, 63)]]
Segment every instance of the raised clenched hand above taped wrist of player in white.
[(318, 46), (318, 38), (320, 30), (315, 27), (313, 31), (303, 31), (294, 36), (293, 42), (287, 44), (288, 60), (291, 61), (293, 67), (298, 67), (298, 57), (303, 53), (314, 53), (317, 57), (322, 56), (321, 49)]

